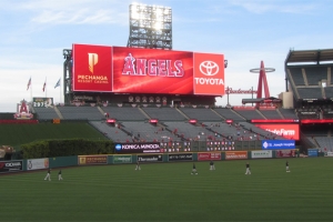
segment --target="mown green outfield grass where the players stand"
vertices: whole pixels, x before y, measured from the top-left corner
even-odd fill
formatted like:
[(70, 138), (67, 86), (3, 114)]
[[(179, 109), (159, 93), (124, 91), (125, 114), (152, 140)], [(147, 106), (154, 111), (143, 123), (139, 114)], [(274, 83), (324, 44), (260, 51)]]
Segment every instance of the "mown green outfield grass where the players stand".
[(0, 175), (0, 221), (333, 221), (329, 158), (81, 167)]

